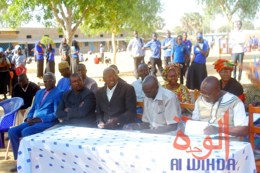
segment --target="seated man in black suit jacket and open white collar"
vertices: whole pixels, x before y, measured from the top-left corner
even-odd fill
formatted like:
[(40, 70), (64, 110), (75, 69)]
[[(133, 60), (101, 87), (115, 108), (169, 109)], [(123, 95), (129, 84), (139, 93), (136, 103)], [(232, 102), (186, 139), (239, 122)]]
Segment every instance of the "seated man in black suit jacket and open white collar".
[(103, 80), (107, 86), (97, 90), (97, 124), (99, 129), (122, 129), (136, 116), (134, 87), (117, 80), (117, 72), (106, 68)]

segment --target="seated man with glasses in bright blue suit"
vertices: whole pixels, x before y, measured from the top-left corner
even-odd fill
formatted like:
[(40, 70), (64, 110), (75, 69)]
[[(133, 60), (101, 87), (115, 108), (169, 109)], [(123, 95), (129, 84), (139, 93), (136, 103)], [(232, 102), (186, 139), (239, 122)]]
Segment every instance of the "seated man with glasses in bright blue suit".
[[(43, 75), (43, 82), (46, 89), (36, 92), (33, 107), (28, 113), (25, 122), (8, 130), (14, 160), (17, 160), (19, 138), (43, 132), (58, 123), (56, 109), (63, 92), (55, 86), (55, 75), (52, 72)], [(16, 172), (17, 164), (9, 171)]]

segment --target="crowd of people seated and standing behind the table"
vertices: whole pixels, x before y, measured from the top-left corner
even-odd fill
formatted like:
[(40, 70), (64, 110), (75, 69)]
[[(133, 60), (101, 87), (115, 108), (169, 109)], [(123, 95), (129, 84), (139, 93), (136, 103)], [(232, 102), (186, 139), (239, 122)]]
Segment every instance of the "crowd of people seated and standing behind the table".
[[(234, 35), (243, 35), (242, 22), (238, 21), (237, 26), (239, 30), (234, 31)], [(243, 56), (238, 50), (241, 50), (243, 43), (241, 43), (241, 38), (239, 40), (236, 37), (231, 38), (233, 47), (237, 48), (234, 49), (237, 52), (233, 52), (235, 54), (233, 58), (239, 61), (240, 65)], [(50, 62), (53, 61), (52, 56), (54, 55), (51, 45), (48, 45), (46, 50), (49, 61), (47, 62), (48, 69), (46, 67), (44, 74), (41, 72), (43, 68), (40, 66), (43, 61), (40, 60), (43, 60), (42, 56), (45, 51), (40, 42), (35, 44), (37, 77), (43, 78), (45, 89), (40, 89), (36, 84), (30, 82), (25, 73), (16, 76), (17, 84), (13, 89), (13, 97), (23, 98), (24, 105), (19, 111), (16, 123), (18, 126), (8, 131), (15, 160), (18, 155), (19, 138), (65, 125), (176, 135), (180, 127), (174, 120), (175, 116), (178, 118), (187, 116), (196, 121), (208, 122), (209, 126), (204, 129), (204, 134), (211, 135), (218, 133), (218, 127), (215, 125), (221, 118), (223, 123), (223, 115), (227, 110), (229, 110), (229, 135), (245, 136), (244, 140), (247, 140), (246, 112), (248, 112), (249, 104), (259, 105), (260, 87), (256, 82), (249, 88), (247, 96), (244, 98), (243, 87), (235, 79), (234, 71), (238, 63), (224, 59), (219, 59), (213, 64), (215, 66), (212, 65), (221, 79), (207, 76), (206, 58), (210, 47), (203, 39), (201, 32), (198, 32), (191, 58), (192, 43), (187, 40), (187, 33), (178, 35), (177, 43), (175, 43), (175, 39), (167, 30), (162, 44), (157, 40), (156, 33), (153, 33), (152, 40), (145, 44), (138, 37), (138, 32), (134, 31), (134, 38), (129, 42), (127, 51), (134, 60), (137, 81), (131, 85), (127, 84), (118, 76), (118, 67), (111, 65), (104, 69), (104, 86), (99, 89), (96, 81), (87, 76), (85, 65), (80, 64), (77, 60), (79, 52), (77, 42), (73, 41), (73, 50), (66, 42), (66, 38), (63, 38), (60, 46), (62, 62), (58, 64), (58, 69), (63, 78), (57, 82), (57, 85), (55, 74), (51, 71), (54, 63)], [(100, 45), (100, 54), (104, 58), (102, 48)], [(17, 46), (15, 50), (16, 53), (11, 61), (6, 58), (5, 64), (2, 63), (0, 66), (0, 72), (4, 75), (7, 75), (6, 69), (12, 64), (15, 64), (15, 68), (22, 63), (25, 66), (26, 57), (22, 54), (21, 47)], [(152, 51), (151, 70), (144, 62), (145, 50)], [(165, 51), (164, 68), (161, 61), (161, 50)], [(3, 60), (3, 55), (4, 52), (0, 50), (0, 61)], [(100, 61), (102, 62), (102, 60), (101, 58)], [(165, 84), (162, 86), (156, 77), (156, 64), (165, 80)], [(256, 66), (260, 67), (260, 61)], [(238, 80), (241, 79), (240, 70)], [(232, 71), (234, 78), (231, 77)], [(186, 86), (183, 84), (185, 76)], [(1, 80), (3, 79), (1, 78)], [(0, 86), (1, 92), (4, 89), (7, 90), (6, 83), (5, 88), (2, 84)], [(189, 89), (200, 90), (201, 97), (195, 103)], [(137, 106), (137, 101), (143, 101), (144, 106)], [(179, 103), (195, 104), (195, 109), (181, 108)], [(30, 107), (31, 104), (32, 107)], [(137, 113), (143, 114), (141, 119), (136, 118)], [(256, 136), (256, 149), (260, 149), (258, 137)], [(17, 166), (10, 171), (16, 170)]]

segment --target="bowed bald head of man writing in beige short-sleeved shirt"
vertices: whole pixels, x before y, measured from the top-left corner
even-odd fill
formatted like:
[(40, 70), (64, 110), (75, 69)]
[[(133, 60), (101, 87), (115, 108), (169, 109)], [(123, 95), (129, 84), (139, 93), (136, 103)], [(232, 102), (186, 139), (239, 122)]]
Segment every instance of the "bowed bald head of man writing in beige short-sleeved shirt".
[(146, 97), (155, 99), (159, 89), (157, 78), (153, 75), (146, 76), (142, 86)]

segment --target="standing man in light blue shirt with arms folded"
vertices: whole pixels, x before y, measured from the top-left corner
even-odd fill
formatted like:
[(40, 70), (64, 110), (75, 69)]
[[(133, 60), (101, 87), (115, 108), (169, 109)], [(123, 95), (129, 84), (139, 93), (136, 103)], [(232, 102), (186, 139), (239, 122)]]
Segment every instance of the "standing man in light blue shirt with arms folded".
[(163, 39), (161, 47), (164, 50), (164, 67), (168, 65), (168, 62), (171, 62), (171, 51), (174, 44), (175, 39), (171, 37), (171, 32), (166, 30), (166, 38)]

